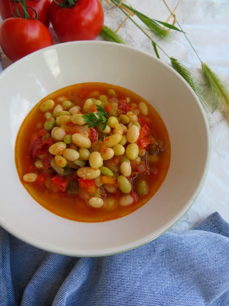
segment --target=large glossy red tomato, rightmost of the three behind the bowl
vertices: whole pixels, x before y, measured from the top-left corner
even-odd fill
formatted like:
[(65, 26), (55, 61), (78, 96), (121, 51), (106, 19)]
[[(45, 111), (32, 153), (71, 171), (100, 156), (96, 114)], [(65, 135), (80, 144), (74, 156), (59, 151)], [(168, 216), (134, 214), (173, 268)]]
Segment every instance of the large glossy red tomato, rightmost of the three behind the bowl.
[(75, 2), (71, 7), (59, 6), (54, 1), (50, 5), (50, 21), (62, 42), (95, 39), (103, 28), (104, 11), (99, 0)]

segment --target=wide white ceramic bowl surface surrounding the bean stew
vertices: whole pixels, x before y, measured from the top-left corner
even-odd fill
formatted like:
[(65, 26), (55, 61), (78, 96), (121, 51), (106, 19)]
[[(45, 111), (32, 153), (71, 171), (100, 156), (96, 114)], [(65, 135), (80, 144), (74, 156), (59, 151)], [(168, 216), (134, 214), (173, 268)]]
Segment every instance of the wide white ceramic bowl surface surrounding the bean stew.
[[(18, 129), (40, 99), (62, 87), (104, 82), (128, 88), (162, 117), (171, 142), (168, 174), (153, 198), (113, 221), (61, 218), (35, 202), (20, 183), (14, 145)], [(209, 164), (209, 131), (192, 89), (168, 65), (143, 51), (106, 42), (72, 42), (39, 50), (0, 74), (0, 224), (38, 248), (72, 256), (135, 248), (173, 226), (191, 207)]]

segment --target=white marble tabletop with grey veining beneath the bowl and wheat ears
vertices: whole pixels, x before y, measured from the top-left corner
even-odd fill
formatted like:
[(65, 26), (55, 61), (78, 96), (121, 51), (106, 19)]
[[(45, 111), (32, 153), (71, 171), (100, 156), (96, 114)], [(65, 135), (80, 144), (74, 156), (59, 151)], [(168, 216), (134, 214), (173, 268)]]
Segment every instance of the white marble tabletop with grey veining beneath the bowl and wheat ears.
[[(166, 21), (169, 16), (162, 0), (129, 0), (129, 2), (151, 18)], [(170, 8), (173, 8), (177, 2), (178, 0), (167, 1)], [(102, 3), (105, 24), (116, 29), (125, 16), (104, 0)], [(229, 0), (182, 0), (176, 10), (176, 16), (202, 61), (229, 84)], [(139, 22), (137, 17), (134, 19)], [(51, 32), (53, 33), (52, 29)], [(129, 45), (154, 54), (149, 39), (131, 21), (127, 21), (119, 33)], [(58, 43), (55, 34), (53, 38), (54, 42)], [(184, 61), (185, 65), (199, 73), (200, 62), (182, 33), (173, 32), (169, 41), (157, 39), (157, 42), (169, 56)], [(164, 54), (160, 53), (160, 56), (164, 62), (169, 63)], [(3, 68), (10, 64), (4, 54), (2, 62)], [(218, 211), (229, 222), (229, 123), (219, 111), (214, 111), (210, 114), (210, 127), (212, 153), (207, 179), (194, 205), (171, 229), (173, 232), (193, 228), (214, 211)]]

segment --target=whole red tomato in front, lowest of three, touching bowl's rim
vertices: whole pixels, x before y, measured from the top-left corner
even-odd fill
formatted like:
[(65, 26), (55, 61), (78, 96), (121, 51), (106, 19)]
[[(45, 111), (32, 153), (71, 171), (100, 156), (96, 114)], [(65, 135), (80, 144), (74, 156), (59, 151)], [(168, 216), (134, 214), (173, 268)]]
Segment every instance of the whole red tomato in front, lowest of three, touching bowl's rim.
[(48, 28), (38, 20), (12, 17), (0, 25), (0, 45), (13, 62), (52, 44)]

